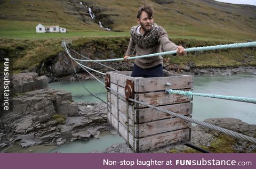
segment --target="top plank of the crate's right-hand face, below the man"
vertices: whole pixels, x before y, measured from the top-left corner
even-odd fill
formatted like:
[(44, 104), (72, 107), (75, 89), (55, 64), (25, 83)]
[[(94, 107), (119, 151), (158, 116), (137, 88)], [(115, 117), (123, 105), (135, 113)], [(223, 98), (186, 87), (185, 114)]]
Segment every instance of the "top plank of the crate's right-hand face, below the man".
[[(166, 83), (170, 86), (166, 86)], [(135, 92), (164, 91), (167, 89), (187, 89), (193, 87), (193, 76), (182, 75), (177, 77), (159, 77), (138, 79), (138, 90)]]

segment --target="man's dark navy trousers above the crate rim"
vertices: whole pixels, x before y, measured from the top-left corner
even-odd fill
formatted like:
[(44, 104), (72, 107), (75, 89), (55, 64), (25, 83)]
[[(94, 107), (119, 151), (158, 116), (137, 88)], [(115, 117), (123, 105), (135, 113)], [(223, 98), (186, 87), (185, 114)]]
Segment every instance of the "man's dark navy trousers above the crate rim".
[(139, 66), (134, 64), (131, 77), (138, 78), (154, 78), (154, 77), (164, 77), (164, 71), (162, 64), (158, 64), (155, 67), (149, 69), (141, 69)]

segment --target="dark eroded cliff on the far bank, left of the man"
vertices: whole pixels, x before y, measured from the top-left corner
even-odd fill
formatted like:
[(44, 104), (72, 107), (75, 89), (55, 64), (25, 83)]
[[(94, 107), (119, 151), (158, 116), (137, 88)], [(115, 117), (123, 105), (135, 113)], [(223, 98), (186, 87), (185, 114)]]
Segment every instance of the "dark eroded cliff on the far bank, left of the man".
[[(69, 52), (73, 57), (80, 60), (87, 60), (87, 58), (91, 60), (120, 58), (124, 56), (128, 43), (129, 41), (127, 41), (127, 39), (123, 39), (121, 42), (104, 39), (95, 40), (90, 41), (89, 43), (84, 43), (80, 46), (71, 46), (71, 48), (74, 48), (74, 50), (69, 48)], [(97, 63), (82, 61), (79, 61), (79, 63), (90, 67), (91, 69), (101, 70), (103, 72), (111, 71), (111, 69), (105, 68)], [(39, 75), (46, 75), (49, 78), (49, 81), (57, 81), (60, 77), (67, 75), (74, 76), (75, 72), (73, 64), (78, 73), (85, 72), (83, 68), (76, 62), (73, 61), (72, 63), (71, 58), (65, 52), (59, 52), (57, 56), (47, 58), (47, 60), (42, 62), (41, 65), (36, 67), (35, 71)], [(132, 63), (102, 62), (102, 64), (113, 67), (114, 69), (118, 69), (120, 71), (132, 69)]]

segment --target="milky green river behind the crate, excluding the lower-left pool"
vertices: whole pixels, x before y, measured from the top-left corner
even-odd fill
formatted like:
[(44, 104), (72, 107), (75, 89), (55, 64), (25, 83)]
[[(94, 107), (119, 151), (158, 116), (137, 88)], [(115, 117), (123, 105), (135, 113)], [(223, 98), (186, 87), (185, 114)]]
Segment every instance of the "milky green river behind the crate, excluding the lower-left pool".
[[(103, 81), (103, 80), (102, 80)], [(83, 85), (106, 101), (106, 89), (96, 80), (86, 80)], [(53, 82), (50, 88), (72, 93), (75, 102), (100, 102), (91, 96), (79, 81)], [(239, 73), (230, 76), (195, 75), (194, 92), (256, 98), (256, 75)], [(193, 118), (205, 120), (216, 117), (233, 117), (249, 124), (256, 124), (255, 104), (194, 96)]]

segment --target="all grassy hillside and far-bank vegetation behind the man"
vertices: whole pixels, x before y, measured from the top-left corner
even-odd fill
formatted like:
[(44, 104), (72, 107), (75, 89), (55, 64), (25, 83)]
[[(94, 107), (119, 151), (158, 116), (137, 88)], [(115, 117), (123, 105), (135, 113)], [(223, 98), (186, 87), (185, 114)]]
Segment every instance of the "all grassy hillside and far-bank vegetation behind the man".
[[(13, 57), (15, 72), (31, 71), (48, 58), (56, 57), (63, 51), (63, 38), (72, 39), (72, 47), (76, 50), (91, 43), (99, 52), (113, 50), (123, 57), (120, 46), (128, 45), (129, 30), (137, 24), (136, 13), (142, 2), (0, 1), (0, 50)], [(213, 0), (153, 0), (148, 4), (153, 4), (155, 22), (166, 29), (175, 44), (186, 48), (256, 40), (256, 6)], [(86, 6), (92, 8), (96, 20), (91, 19)], [(102, 30), (98, 21), (113, 31)], [(38, 23), (59, 25), (67, 28), (68, 32), (36, 33)], [(197, 67), (256, 65), (255, 50), (248, 48), (210, 51), (201, 55), (189, 53), (186, 57), (165, 56), (165, 62), (181, 68), (190, 61)]]

